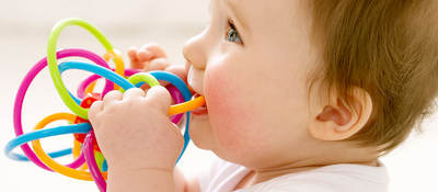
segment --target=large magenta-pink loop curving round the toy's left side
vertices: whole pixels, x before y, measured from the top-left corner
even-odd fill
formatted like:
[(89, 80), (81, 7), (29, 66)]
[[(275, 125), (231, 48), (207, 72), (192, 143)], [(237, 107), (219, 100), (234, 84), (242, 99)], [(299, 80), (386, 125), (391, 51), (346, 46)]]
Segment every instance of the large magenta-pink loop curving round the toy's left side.
[[(71, 56), (83, 57), (83, 58), (87, 58), (87, 59), (97, 64), (97, 65), (110, 68), (110, 66), (106, 64), (106, 61), (102, 57), (100, 57), (99, 55), (96, 55), (94, 53), (85, 50), (85, 49), (80, 49), (80, 48), (62, 49), (62, 50), (58, 50), (56, 56), (57, 56), (57, 58), (65, 58), (65, 57), (71, 57)], [(15, 101), (14, 101), (14, 111), (13, 111), (13, 124), (14, 124), (14, 132), (15, 132), (16, 136), (23, 135), (23, 125), (22, 125), (21, 121), (22, 121), (23, 100), (26, 94), (26, 91), (27, 91), (28, 87), (31, 86), (33, 79), (46, 66), (47, 66), (47, 57), (44, 57), (38, 63), (36, 63), (35, 66), (26, 74), (26, 76), (24, 77), (23, 81), (20, 84), (19, 91), (16, 92)], [(107, 86), (108, 86), (108, 83), (107, 83)], [(113, 82), (111, 82), (111, 87), (113, 87)], [(36, 166), (38, 166), (43, 169), (53, 171), (50, 168), (48, 168), (46, 165), (44, 165), (38, 159), (38, 157), (35, 155), (35, 153), (31, 149), (31, 147), (27, 144), (23, 144), (20, 147), (23, 150), (24, 155)]]

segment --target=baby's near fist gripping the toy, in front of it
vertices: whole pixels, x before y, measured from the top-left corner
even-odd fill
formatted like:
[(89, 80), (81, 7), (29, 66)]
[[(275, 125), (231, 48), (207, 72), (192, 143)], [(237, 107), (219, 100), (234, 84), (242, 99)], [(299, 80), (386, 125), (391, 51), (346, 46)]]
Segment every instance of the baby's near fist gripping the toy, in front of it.
[(147, 93), (111, 91), (91, 105), (89, 120), (110, 169), (173, 170), (184, 139), (168, 116), (171, 101), (169, 91), (155, 86)]

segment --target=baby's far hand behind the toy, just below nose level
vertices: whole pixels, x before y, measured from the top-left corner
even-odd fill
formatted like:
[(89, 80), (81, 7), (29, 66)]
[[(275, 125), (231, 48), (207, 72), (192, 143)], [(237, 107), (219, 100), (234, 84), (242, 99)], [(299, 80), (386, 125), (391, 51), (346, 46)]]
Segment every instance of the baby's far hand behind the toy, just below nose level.
[[(142, 71), (165, 70), (178, 76), (186, 82), (187, 74), (185, 67), (183, 65), (171, 65), (163, 48), (155, 43), (146, 44), (140, 48), (130, 47), (128, 56), (131, 68)], [(160, 80), (160, 84), (166, 87), (169, 82)], [(148, 88), (148, 86), (143, 88)]]

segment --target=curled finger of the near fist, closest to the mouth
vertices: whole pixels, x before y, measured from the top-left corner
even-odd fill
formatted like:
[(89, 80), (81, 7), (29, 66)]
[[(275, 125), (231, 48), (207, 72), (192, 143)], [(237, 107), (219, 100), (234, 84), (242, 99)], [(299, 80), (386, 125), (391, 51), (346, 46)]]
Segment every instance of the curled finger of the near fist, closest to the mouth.
[(160, 111), (168, 114), (172, 103), (171, 93), (162, 86), (154, 86), (148, 90), (145, 99), (153, 103)]

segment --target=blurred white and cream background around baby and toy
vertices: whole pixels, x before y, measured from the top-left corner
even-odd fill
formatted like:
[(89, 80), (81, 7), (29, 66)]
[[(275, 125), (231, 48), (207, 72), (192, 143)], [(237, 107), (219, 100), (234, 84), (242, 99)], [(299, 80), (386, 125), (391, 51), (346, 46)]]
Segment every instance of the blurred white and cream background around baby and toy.
[[(53, 25), (65, 18), (81, 18), (97, 26), (113, 46), (126, 52), (130, 46), (157, 42), (175, 65), (185, 63), (182, 47), (208, 23), (208, 0), (14, 0), (0, 7), (0, 147), (14, 137), (13, 101), (21, 80), (46, 54)], [(67, 27), (58, 47), (81, 47), (100, 55), (104, 48), (84, 30)], [(90, 74), (69, 71), (62, 79), (70, 90)], [(41, 72), (28, 89), (23, 104), (24, 132), (31, 132), (43, 117), (55, 112), (69, 112), (51, 83), (48, 70)], [(391, 192), (438, 191), (438, 114), (423, 124), (424, 133), (414, 133), (396, 150), (381, 160), (387, 165)], [(51, 124), (50, 124), (51, 125)], [(54, 123), (53, 126), (55, 126)], [(42, 140), (46, 151), (72, 146), (72, 136)], [(15, 150), (19, 151), (19, 150)], [(21, 151), (20, 151), (21, 153)], [(178, 167), (188, 177), (207, 169), (212, 154), (197, 149), (192, 143)], [(71, 156), (59, 158), (67, 163)], [(31, 162), (18, 162), (0, 156), (0, 191), (97, 191), (93, 182), (73, 180), (42, 170)]]

